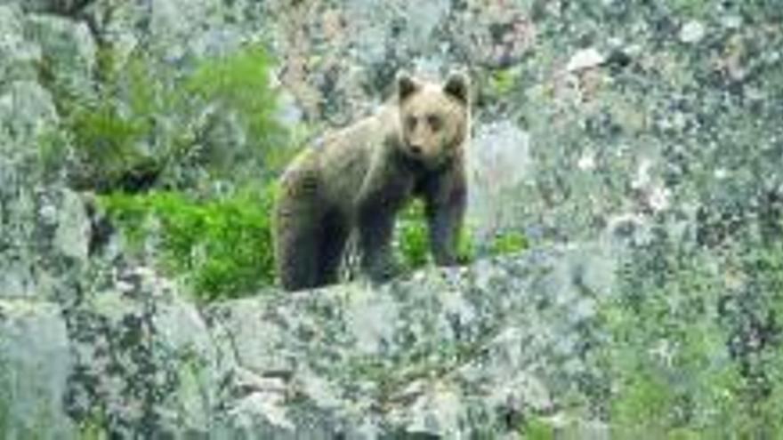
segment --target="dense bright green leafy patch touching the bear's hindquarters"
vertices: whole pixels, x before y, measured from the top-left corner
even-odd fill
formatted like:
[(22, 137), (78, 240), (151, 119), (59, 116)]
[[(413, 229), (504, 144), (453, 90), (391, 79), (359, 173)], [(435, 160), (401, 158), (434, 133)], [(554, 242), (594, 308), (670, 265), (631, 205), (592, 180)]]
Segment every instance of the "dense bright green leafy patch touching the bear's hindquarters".
[(272, 284), (273, 192), (203, 202), (173, 192), (112, 194), (101, 204), (137, 246), (154, 237), (157, 221), (165, 268), (187, 275), (199, 299), (217, 300)]

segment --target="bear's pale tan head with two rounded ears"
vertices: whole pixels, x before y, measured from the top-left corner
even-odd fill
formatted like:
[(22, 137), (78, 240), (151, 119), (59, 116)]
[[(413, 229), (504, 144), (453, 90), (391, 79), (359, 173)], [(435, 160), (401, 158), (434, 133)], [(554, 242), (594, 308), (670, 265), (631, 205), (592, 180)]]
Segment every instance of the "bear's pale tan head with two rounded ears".
[(469, 125), (468, 79), (452, 73), (443, 84), (397, 76), (397, 97), (404, 153), (437, 168), (462, 153)]

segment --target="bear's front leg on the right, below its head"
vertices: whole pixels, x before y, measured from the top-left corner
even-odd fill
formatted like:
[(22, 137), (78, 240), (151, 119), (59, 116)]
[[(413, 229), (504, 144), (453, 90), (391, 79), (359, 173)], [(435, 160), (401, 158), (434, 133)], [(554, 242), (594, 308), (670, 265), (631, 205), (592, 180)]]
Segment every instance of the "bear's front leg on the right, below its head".
[(467, 202), (463, 176), (455, 172), (432, 181), (424, 198), (432, 258), (438, 266), (454, 266)]

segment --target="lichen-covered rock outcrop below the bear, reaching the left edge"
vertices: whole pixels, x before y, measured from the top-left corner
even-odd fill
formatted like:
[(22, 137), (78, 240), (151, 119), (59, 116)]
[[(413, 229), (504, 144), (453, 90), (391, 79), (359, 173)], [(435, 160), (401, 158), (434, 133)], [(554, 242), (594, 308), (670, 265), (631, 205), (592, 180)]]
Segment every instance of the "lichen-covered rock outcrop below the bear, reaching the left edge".
[(149, 269), (116, 269), (70, 308), (0, 302), (0, 420), (20, 436), (512, 434), (600, 379), (581, 359), (600, 272), (550, 250), (199, 312)]

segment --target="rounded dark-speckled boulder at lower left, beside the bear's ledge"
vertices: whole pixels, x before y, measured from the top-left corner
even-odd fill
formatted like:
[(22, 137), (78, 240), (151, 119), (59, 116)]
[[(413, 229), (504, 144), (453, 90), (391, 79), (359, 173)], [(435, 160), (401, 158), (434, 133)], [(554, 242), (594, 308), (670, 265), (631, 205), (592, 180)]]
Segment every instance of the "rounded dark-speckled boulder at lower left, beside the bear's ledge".
[(118, 269), (111, 281), (68, 310), (65, 411), (110, 417), (120, 436), (208, 432), (225, 366), (197, 308), (147, 268)]

